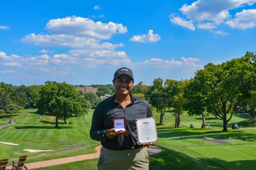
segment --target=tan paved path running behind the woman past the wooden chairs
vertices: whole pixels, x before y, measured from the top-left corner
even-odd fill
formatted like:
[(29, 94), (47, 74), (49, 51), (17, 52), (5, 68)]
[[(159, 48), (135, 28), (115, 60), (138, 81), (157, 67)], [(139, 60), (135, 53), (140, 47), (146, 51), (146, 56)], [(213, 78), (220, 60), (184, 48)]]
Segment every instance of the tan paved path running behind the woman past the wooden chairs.
[[(96, 153), (78, 155), (78, 156), (74, 156), (74, 157), (63, 157), (63, 158), (52, 159), (52, 160), (47, 160), (47, 161), (40, 161), (40, 162), (32, 162), (32, 163), (27, 163), (25, 165), (28, 169), (34, 169), (34, 168), (41, 168), (41, 167), (46, 167), (46, 166), (66, 164), (66, 163), (75, 162), (75, 161), (82, 161), (84, 159), (98, 158), (100, 156), (101, 145), (97, 146), (95, 149), (97, 151)], [(157, 146), (152, 145), (149, 148), (147, 148), (147, 151), (148, 151), (148, 155), (152, 155), (152, 154), (161, 152), (162, 149)], [(12, 166), (7, 166), (6, 169), (11, 170)]]

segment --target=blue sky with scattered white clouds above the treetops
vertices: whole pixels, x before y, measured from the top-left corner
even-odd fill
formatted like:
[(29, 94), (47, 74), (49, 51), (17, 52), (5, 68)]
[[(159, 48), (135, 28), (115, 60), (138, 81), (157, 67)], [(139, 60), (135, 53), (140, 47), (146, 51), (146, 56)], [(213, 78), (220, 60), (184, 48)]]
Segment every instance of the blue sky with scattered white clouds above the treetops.
[[(111, 3), (110, 3), (111, 2)], [(189, 79), (256, 49), (256, 0), (1, 1), (0, 81)]]

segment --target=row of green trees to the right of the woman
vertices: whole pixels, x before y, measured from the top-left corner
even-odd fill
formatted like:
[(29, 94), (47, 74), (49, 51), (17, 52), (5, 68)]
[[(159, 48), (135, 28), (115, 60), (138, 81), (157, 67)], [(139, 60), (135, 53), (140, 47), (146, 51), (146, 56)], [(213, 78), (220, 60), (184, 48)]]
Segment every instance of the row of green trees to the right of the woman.
[(240, 109), (256, 117), (256, 55), (247, 51), (241, 58), (222, 64), (208, 63), (197, 70), (190, 80), (161, 78), (153, 86), (134, 86), (132, 93), (144, 98), (160, 114), (160, 124), (166, 109), (175, 111), (175, 128), (179, 127), (180, 115), (186, 110), (189, 115), (202, 115), (202, 128), (209, 114), (223, 121), (223, 131), (232, 115)]

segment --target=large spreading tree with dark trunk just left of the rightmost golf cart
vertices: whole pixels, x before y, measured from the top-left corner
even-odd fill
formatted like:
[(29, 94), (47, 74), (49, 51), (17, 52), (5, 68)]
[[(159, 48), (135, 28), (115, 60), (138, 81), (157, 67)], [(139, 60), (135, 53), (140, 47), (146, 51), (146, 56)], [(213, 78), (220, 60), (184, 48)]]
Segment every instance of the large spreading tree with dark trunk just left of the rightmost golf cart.
[[(216, 119), (223, 120), (223, 131), (227, 131), (227, 123), (241, 106), (243, 96), (239, 87), (244, 82), (241, 76), (234, 73), (237, 68), (246, 69), (246, 63), (246, 57), (218, 65), (208, 63), (195, 74), (194, 81), (198, 84), (196, 92), (205, 96), (206, 111), (215, 115)], [(227, 118), (227, 115), (230, 117)]]

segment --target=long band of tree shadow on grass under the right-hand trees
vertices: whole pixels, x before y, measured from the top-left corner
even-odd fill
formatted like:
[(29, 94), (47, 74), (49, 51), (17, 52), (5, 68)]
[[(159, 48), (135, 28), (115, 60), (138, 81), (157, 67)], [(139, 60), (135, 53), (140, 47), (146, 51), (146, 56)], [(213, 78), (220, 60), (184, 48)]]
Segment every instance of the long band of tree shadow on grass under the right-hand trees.
[[(244, 131), (215, 131), (211, 129), (205, 129), (206, 132), (202, 132), (201, 129), (170, 129), (170, 128), (158, 128), (158, 138), (172, 138), (170, 140), (187, 140), (187, 139), (204, 139), (204, 136), (219, 140), (237, 139), (242, 141), (256, 141), (256, 134)], [(178, 137), (178, 138), (177, 138)]]

